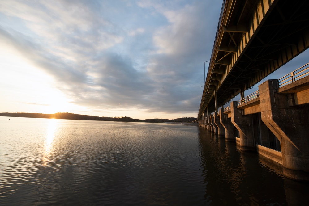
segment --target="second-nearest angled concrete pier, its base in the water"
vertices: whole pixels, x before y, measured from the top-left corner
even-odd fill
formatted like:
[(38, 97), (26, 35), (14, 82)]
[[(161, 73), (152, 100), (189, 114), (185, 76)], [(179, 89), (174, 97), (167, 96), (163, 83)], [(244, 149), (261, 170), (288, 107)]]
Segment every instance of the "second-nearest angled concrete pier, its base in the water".
[(237, 106), (237, 101), (231, 103), (231, 120), (239, 131), (240, 150), (255, 151), (252, 116), (242, 115), (242, 109), (238, 109)]

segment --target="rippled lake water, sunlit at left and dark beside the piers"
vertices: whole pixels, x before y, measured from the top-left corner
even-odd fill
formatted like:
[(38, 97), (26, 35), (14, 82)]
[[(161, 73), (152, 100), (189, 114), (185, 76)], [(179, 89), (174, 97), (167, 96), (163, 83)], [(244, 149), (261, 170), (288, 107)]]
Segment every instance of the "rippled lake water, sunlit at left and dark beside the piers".
[(308, 188), (196, 126), (0, 117), (0, 205), (308, 205)]

